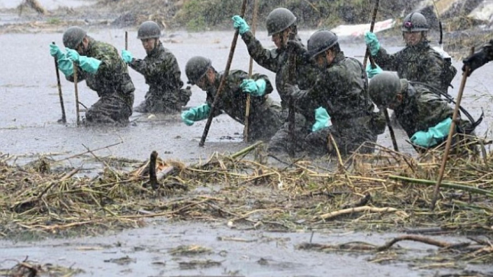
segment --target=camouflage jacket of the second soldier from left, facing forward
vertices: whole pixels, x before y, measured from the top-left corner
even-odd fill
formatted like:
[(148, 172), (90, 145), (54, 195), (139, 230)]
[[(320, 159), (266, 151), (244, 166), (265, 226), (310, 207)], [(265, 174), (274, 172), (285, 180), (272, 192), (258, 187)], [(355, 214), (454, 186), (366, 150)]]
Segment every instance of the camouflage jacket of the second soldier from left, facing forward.
[(144, 75), (149, 91), (156, 95), (178, 92), (183, 86), (181, 71), (175, 55), (164, 48), (161, 42), (144, 60), (134, 59), (129, 66)]

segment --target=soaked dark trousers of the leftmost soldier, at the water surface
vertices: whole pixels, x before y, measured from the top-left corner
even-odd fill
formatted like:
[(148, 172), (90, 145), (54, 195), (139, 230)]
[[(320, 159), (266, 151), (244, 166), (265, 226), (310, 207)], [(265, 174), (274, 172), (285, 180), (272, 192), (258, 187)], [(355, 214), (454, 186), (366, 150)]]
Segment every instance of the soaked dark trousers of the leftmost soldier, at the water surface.
[[(133, 98), (132, 98), (133, 100)], [(101, 96), (86, 112), (85, 125), (110, 124), (125, 126), (132, 115), (130, 108), (121, 97), (112, 94)]]

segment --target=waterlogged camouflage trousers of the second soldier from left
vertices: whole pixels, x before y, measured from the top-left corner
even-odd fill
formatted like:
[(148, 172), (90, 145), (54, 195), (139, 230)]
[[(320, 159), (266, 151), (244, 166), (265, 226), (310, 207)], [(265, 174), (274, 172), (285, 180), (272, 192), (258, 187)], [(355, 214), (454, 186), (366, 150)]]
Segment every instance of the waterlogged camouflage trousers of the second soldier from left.
[(181, 107), (190, 100), (192, 91), (190, 87), (177, 91), (161, 92), (149, 90), (145, 94), (145, 100), (134, 110), (141, 113), (177, 113)]

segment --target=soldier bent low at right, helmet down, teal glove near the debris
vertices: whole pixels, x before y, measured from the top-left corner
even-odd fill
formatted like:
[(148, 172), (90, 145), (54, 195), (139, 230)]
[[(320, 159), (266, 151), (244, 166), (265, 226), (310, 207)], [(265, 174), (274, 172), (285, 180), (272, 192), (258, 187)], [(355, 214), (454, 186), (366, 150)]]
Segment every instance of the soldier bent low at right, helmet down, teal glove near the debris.
[[(394, 111), (416, 150), (434, 148), (447, 140), (453, 109), (429, 86), (400, 79), (393, 72), (382, 72), (370, 80), (370, 96), (381, 108)], [(473, 134), (473, 126), (459, 118), (456, 133)], [(454, 145), (464, 136), (455, 136)]]

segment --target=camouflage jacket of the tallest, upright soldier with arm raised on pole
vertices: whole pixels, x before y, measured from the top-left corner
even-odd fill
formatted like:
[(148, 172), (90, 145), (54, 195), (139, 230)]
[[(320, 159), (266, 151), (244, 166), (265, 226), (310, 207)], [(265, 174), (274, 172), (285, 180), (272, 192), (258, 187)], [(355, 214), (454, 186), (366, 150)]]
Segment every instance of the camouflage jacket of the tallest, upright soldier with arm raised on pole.
[[(255, 38), (252, 32), (245, 32), (241, 36), (247, 45), (250, 56), (259, 64), (272, 72), (276, 73), (276, 89), (281, 97), (281, 106), (287, 108), (288, 98), (285, 91), (285, 84), (288, 82), (288, 49), (264, 49), (262, 44)], [(300, 39), (298, 38), (298, 41)], [(320, 71), (310, 63), (305, 57), (296, 57), (296, 78), (290, 80), (292, 85), (298, 85), (301, 89), (310, 88), (316, 80)]]

